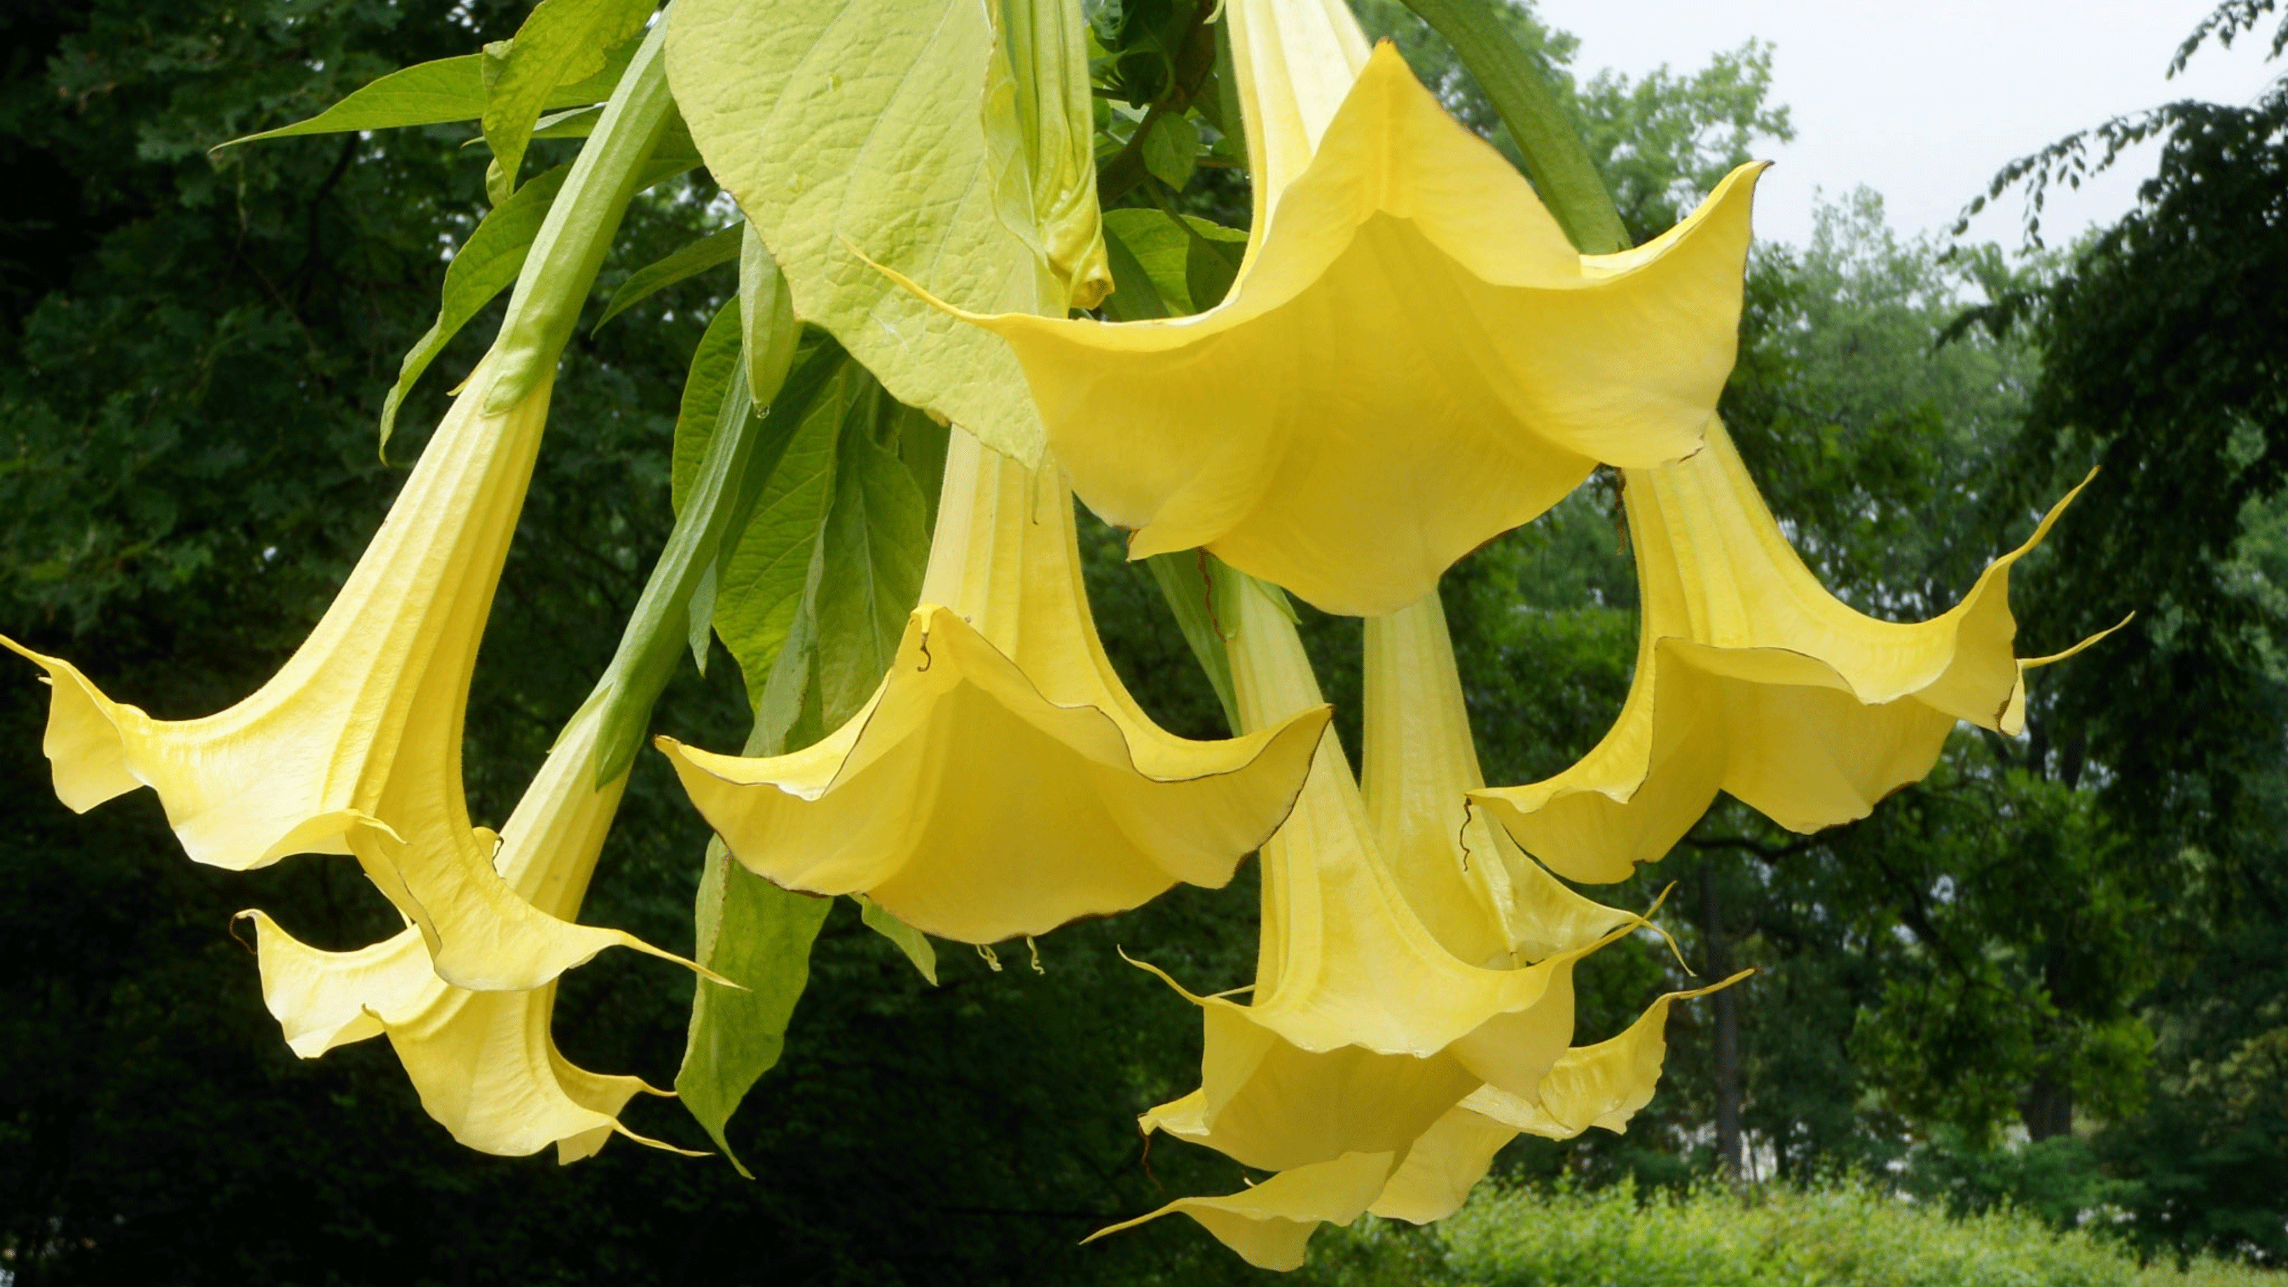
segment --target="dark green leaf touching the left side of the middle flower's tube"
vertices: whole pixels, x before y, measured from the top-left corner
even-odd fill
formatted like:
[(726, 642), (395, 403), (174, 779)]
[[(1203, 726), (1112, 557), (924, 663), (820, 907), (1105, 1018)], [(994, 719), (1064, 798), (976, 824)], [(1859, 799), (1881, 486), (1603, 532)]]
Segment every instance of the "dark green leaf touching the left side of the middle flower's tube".
[[(851, 410), (881, 414), (865, 403)], [(929, 563), (927, 513), (906, 465), (872, 433), (844, 424), (819, 582), (819, 708), (828, 728), (874, 696), (897, 657)]]

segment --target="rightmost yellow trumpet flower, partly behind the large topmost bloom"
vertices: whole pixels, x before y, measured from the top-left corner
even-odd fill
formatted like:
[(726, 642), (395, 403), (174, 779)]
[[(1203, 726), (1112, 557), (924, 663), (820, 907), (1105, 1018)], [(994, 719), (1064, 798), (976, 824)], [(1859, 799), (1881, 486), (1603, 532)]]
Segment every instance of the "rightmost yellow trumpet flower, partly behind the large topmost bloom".
[(1794, 831), (1865, 818), (1931, 772), (1956, 719), (2016, 735), (2025, 671), (2096, 641), (2055, 657), (2011, 650), (2011, 563), (2075, 492), (1963, 602), (1888, 623), (1819, 584), (1711, 421), (1700, 456), (1624, 474), (1643, 625), (1620, 719), (1558, 776), (1471, 799), (1583, 882), (1627, 879), (1666, 854), (1718, 790)]

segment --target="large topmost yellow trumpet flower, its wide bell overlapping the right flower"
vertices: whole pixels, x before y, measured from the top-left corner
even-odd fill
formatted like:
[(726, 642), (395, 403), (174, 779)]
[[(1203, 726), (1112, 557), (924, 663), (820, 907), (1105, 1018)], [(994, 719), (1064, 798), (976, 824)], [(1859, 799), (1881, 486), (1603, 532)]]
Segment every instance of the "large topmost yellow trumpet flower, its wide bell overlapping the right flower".
[(1222, 305), (972, 321), (1009, 339), (1052, 453), (1089, 508), (1135, 529), (1130, 556), (1203, 545), (1327, 611), (1384, 614), (1599, 460), (1700, 449), (1732, 371), (1757, 169), (1645, 247), (1581, 256), (1517, 169), (1391, 46), (1364, 57), (1334, 9), (1231, 5), (1258, 213)]

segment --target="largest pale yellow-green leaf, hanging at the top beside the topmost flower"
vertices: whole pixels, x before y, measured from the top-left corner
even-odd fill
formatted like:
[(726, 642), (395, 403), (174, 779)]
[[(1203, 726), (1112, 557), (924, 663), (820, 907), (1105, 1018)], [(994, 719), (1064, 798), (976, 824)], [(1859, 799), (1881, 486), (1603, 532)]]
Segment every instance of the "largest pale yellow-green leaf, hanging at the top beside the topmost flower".
[(1007, 344), (881, 275), (977, 311), (1062, 293), (986, 167), (986, 5), (680, 0), (668, 78), (707, 167), (787, 268), (794, 311), (904, 403), (1034, 460), (1041, 424)]

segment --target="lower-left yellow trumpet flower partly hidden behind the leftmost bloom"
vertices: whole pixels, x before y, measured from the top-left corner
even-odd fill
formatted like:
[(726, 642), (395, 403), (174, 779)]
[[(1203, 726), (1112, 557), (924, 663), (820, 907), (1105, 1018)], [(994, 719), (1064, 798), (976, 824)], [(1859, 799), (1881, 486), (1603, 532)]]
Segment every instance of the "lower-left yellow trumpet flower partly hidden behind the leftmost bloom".
[[(501, 829), (494, 859), (517, 898), (565, 921), (579, 914), (627, 788), (627, 774), (595, 785), (597, 724), (597, 701), (572, 717)], [(579, 1069), (556, 1051), (554, 980), (524, 992), (467, 992), (437, 978), (412, 925), (371, 948), (325, 953), (261, 911), (243, 916), (256, 927), (263, 1003), (297, 1056), (318, 1058), (387, 1033), (421, 1106), (480, 1152), (529, 1154), (554, 1143), (558, 1161), (579, 1161), (613, 1134), (668, 1147), (618, 1120), (638, 1090), (661, 1090)]]

